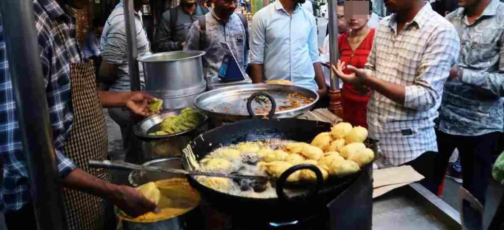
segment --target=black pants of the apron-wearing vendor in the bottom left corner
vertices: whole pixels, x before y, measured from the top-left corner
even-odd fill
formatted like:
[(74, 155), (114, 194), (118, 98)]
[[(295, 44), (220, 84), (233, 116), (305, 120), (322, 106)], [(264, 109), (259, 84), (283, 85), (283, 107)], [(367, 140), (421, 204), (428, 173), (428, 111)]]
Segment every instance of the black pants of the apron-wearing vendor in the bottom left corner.
[(17, 211), (4, 213), (7, 229), (37, 229), (33, 204), (27, 203)]

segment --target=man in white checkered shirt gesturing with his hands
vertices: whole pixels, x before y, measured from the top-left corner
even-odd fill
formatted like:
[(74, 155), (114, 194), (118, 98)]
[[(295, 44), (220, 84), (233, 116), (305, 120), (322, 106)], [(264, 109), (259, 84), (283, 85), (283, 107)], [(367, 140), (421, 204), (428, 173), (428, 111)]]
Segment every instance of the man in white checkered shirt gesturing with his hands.
[(422, 0), (386, 0), (393, 14), (376, 29), (365, 69), (338, 62), (333, 70), (345, 83), (374, 90), (367, 107), (370, 138), (380, 141), (385, 159), (411, 165), (425, 176), (422, 184), (437, 191), (433, 181), (437, 151), (434, 118), (443, 85), (460, 51), (457, 31)]

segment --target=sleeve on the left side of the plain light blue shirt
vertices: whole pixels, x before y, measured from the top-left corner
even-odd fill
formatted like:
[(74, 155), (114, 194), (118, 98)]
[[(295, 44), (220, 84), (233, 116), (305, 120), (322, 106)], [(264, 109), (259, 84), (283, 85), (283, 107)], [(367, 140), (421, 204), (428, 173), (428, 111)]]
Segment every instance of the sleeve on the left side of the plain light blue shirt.
[(254, 15), (250, 31), (250, 62), (253, 64), (264, 63), (265, 34), (261, 14)]

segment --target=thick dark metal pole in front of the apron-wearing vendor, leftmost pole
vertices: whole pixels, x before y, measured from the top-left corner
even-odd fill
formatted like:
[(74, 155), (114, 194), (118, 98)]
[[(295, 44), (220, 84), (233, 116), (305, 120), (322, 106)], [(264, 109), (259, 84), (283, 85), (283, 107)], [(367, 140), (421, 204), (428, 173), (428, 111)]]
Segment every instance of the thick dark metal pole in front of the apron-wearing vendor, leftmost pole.
[(0, 1), (0, 4), (38, 229), (66, 229), (35, 30), (33, 1)]

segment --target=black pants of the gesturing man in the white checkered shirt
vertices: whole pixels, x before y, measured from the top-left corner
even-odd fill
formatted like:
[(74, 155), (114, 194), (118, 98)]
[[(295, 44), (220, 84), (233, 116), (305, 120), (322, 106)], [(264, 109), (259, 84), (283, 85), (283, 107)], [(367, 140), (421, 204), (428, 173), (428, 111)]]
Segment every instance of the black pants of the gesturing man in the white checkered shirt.
[(415, 171), (424, 176), (425, 178), (420, 181), (420, 184), (435, 195), (437, 195), (438, 187), (435, 175), (437, 172), (442, 171), (442, 169), (435, 165), (436, 158), (437, 152), (428, 151), (424, 152), (424, 154), (420, 155), (415, 160), (403, 164), (413, 167)]

